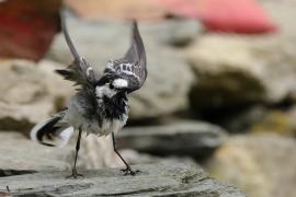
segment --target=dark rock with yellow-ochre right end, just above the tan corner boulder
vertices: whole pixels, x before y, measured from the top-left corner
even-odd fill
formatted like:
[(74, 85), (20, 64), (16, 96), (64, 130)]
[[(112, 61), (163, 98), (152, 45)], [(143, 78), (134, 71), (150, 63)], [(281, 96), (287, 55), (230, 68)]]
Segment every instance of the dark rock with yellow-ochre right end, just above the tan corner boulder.
[[(234, 134), (272, 132), (286, 137), (296, 136), (296, 107), (289, 103), (267, 107), (262, 104), (247, 106), (237, 112), (221, 112), (225, 114), (218, 125)], [(217, 123), (216, 123), (217, 124)]]

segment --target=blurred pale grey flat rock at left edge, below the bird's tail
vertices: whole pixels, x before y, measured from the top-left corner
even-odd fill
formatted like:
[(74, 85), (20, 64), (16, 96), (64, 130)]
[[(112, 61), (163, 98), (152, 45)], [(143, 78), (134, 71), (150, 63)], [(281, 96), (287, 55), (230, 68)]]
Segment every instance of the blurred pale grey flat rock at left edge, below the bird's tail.
[[(0, 176), (36, 171), (62, 171), (72, 166), (66, 162), (69, 148), (41, 146), (13, 131), (1, 131), (0, 139)], [(2, 188), (0, 184), (0, 189)]]

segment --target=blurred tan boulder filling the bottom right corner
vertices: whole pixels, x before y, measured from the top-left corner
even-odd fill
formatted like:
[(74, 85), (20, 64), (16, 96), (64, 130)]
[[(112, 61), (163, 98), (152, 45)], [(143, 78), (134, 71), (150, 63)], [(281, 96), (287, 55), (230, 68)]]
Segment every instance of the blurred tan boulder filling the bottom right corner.
[(232, 137), (207, 164), (214, 177), (254, 197), (295, 196), (295, 139), (275, 135)]

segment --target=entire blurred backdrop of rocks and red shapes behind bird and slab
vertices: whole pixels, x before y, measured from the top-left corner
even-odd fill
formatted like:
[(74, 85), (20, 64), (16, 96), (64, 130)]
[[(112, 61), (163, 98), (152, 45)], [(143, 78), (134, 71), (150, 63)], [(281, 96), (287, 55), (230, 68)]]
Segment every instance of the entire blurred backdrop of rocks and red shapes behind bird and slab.
[[(72, 60), (61, 8), (98, 72), (139, 22), (149, 76), (117, 135), (130, 163), (191, 160), (249, 196), (295, 196), (295, 0), (0, 0), (0, 169), (72, 164), (75, 139), (62, 149), (29, 140), (75, 93), (54, 72)], [(89, 136), (79, 165), (122, 163), (110, 138)]]

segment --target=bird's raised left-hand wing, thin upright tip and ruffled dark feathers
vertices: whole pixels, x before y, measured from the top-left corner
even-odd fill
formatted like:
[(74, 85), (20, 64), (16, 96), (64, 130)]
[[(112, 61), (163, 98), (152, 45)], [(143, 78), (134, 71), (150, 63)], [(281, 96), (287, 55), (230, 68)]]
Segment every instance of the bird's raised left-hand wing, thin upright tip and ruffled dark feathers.
[(65, 16), (62, 13), (60, 14), (60, 18), (61, 30), (75, 60), (67, 69), (56, 71), (65, 79), (76, 82), (77, 85), (81, 85), (84, 88), (93, 88), (96, 81), (94, 71), (90, 63), (84, 59), (84, 57), (80, 56), (76, 50), (75, 45), (69, 36), (68, 28), (65, 22)]

